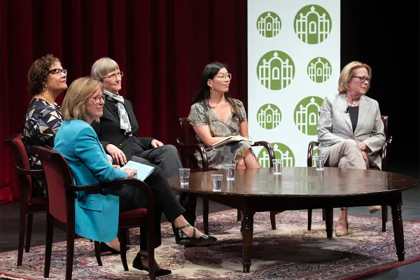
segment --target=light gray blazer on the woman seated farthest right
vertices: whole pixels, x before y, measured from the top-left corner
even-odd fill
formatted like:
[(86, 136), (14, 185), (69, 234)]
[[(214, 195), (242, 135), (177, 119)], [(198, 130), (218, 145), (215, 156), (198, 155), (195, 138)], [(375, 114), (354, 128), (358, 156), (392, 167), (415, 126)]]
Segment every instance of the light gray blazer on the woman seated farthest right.
[(325, 97), (319, 109), (318, 119), (318, 153), (323, 155), (324, 162), (330, 155), (330, 147), (346, 139), (363, 141), (370, 165), (381, 169), (381, 150), (385, 141), (384, 123), (381, 120), (379, 104), (376, 100), (362, 96), (359, 100), (358, 121), (356, 130), (351, 126), (350, 114), (346, 113), (345, 94), (332, 94)]

